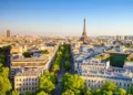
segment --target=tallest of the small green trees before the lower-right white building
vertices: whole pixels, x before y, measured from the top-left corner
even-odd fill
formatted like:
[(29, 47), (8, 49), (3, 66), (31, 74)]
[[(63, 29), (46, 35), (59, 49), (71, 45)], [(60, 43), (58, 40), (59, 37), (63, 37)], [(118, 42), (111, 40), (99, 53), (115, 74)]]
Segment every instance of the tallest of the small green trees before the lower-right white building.
[(102, 85), (102, 89), (103, 91), (112, 91), (112, 92), (115, 92), (117, 88), (116, 84), (113, 83), (113, 82), (105, 82), (103, 85)]

